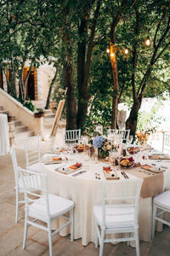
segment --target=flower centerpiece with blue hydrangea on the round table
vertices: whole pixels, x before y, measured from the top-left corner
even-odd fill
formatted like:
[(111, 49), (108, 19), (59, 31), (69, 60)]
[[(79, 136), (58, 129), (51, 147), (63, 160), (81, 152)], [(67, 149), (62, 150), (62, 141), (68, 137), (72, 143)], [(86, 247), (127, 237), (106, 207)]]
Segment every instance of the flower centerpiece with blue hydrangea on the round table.
[(107, 139), (101, 135), (98, 137), (94, 137), (93, 140), (94, 148), (98, 148), (98, 156), (100, 158), (105, 158), (109, 156), (109, 152), (111, 150), (111, 143), (107, 141)]

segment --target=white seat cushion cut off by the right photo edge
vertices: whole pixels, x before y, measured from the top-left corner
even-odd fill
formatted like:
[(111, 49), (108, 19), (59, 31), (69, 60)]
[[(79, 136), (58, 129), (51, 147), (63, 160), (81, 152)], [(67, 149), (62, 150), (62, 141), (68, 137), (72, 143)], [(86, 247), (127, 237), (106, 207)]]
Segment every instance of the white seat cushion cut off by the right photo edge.
[(160, 195), (154, 197), (153, 202), (160, 207), (167, 208), (170, 210), (170, 190), (167, 190)]

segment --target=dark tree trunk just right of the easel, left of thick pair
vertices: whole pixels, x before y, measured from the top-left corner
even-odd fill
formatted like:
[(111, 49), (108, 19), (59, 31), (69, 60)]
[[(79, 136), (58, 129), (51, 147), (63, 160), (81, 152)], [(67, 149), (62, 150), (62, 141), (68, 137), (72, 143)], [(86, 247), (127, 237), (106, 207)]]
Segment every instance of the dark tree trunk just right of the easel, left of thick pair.
[(67, 87), (66, 130), (75, 130), (77, 129), (77, 110), (76, 110), (72, 61), (65, 61), (65, 64), (63, 67), (63, 74), (64, 74), (64, 78), (63, 78), (64, 88)]

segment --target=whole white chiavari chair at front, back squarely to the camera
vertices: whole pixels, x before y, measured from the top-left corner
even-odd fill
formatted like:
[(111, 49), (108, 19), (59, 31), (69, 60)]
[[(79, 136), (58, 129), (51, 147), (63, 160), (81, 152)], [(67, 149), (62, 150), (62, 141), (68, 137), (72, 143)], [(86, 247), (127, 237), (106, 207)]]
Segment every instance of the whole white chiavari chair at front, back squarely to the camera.
[[(99, 256), (103, 255), (105, 242), (135, 241), (136, 253), (139, 256), (139, 195), (143, 179), (135, 181), (101, 182), (102, 204), (94, 207), (95, 247)], [(123, 234), (129, 236), (123, 236)], [(119, 238), (107, 238), (107, 234), (119, 234)], [(126, 234), (126, 235), (127, 235)], [(131, 236), (130, 236), (131, 235)]]

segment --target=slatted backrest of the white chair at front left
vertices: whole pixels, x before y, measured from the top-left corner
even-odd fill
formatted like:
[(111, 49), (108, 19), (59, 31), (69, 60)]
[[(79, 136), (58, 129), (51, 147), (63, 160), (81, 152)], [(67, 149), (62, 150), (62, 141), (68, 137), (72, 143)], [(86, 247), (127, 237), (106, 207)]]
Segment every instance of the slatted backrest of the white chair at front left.
[[(35, 217), (40, 215), (41, 218), (48, 219), (49, 204), (48, 204), (48, 176), (47, 173), (31, 172), (26, 169), (19, 168), (20, 177), (24, 184), (26, 212), (29, 214), (31, 204), (37, 199), (37, 207), (34, 209)], [(32, 192), (33, 191), (33, 192)]]

